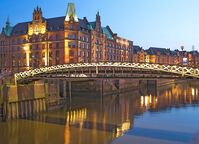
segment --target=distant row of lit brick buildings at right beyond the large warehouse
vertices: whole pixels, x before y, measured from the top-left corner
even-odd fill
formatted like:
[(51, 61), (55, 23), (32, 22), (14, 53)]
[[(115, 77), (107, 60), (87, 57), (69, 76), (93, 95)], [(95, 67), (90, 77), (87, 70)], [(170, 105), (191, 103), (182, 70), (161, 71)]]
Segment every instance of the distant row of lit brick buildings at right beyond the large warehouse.
[(167, 48), (150, 47), (144, 50), (140, 46), (133, 46), (133, 62), (166, 64), (166, 65), (184, 65), (199, 67), (198, 51), (179, 51)]

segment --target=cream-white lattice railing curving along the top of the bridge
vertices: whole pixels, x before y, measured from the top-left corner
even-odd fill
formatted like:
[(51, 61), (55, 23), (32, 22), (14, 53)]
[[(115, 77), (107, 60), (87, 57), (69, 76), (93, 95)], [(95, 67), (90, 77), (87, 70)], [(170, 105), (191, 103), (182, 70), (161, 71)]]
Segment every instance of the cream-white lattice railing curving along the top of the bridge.
[(173, 74), (179, 74), (181, 76), (190, 76), (199, 78), (199, 69), (192, 67), (183, 67), (176, 65), (160, 65), (160, 64), (149, 64), (149, 63), (122, 63), (122, 62), (107, 62), (107, 63), (76, 63), (76, 64), (64, 64), (50, 67), (36, 68), (15, 74), (15, 80), (26, 79), (28, 77), (34, 77), (43, 73), (57, 72), (59, 70), (75, 70), (77, 68), (96, 68), (98, 73), (98, 67), (116, 67), (116, 68), (134, 68), (140, 70), (160, 71), (168, 72)]

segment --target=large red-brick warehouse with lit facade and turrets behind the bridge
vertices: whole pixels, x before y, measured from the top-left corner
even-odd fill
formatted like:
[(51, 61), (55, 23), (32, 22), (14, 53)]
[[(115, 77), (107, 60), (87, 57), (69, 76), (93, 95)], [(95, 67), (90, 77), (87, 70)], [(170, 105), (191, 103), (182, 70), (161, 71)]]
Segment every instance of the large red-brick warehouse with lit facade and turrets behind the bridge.
[(41, 8), (30, 22), (11, 26), (9, 19), (0, 34), (0, 70), (30, 68), (78, 62), (131, 62), (133, 42), (118, 37), (109, 26), (96, 20), (79, 19), (73, 3), (66, 16), (44, 18)]

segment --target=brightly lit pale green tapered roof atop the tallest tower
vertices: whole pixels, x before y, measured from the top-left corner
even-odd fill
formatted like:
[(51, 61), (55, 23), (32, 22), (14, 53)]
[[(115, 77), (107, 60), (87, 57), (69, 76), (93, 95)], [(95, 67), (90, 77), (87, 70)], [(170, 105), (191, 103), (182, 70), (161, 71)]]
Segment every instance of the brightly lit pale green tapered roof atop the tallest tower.
[(66, 12), (66, 18), (65, 21), (74, 20), (75, 22), (78, 22), (77, 14), (75, 11), (75, 5), (73, 3), (68, 3), (68, 9)]

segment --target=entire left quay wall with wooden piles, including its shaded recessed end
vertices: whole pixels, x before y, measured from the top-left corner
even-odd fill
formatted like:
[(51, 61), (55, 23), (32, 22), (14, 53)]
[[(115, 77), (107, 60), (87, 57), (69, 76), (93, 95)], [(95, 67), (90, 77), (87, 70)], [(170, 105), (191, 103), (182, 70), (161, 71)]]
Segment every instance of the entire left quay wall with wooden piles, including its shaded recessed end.
[(3, 120), (29, 118), (61, 102), (57, 81), (0, 85), (0, 119)]

